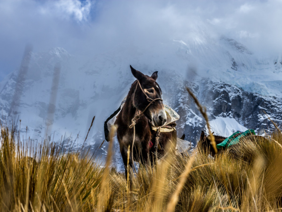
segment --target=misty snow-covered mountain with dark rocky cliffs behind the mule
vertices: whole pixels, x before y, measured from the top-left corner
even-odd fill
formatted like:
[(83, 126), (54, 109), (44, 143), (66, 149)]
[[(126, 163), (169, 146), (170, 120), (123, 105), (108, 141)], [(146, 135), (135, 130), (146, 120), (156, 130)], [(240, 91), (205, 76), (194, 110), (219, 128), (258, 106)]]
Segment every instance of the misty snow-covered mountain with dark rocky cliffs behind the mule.
[[(179, 113), (177, 132), (185, 133), (186, 140), (195, 143), (206, 123), (185, 87), (206, 106), (216, 134), (271, 130), (264, 111), (282, 123), (282, 57), (257, 56), (227, 37), (170, 40), (144, 49), (121, 45), (94, 57), (70, 55), (58, 47), (31, 52), (0, 83), (1, 121), (21, 119), (24, 139), (47, 134), (79, 147), (95, 116), (86, 140), (95, 150), (104, 140), (103, 122), (134, 81), (129, 64), (148, 75), (159, 71), (164, 103)], [(107, 144), (97, 151), (105, 155)]]

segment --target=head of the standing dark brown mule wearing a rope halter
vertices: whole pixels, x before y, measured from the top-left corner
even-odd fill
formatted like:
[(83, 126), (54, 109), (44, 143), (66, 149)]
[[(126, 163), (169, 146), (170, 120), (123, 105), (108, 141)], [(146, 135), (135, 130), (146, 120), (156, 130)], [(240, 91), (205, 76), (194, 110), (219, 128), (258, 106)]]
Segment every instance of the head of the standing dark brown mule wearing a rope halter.
[[(131, 72), (133, 76), (139, 81), (136, 81), (136, 84), (133, 83), (133, 89), (135, 91), (133, 95), (133, 106), (135, 106), (138, 110), (144, 111), (145, 108), (149, 105), (151, 100), (147, 99), (147, 96), (151, 99), (161, 99), (162, 91), (159, 87), (159, 84), (156, 82), (158, 77), (158, 72), (155, 71), (150, 77), (144, 75), (140, 71), (135, 70), (130, 66)], [(135, 90), (136, 89), (136, 90)], [(147, 95), (145, 95), (143, 93)], [(155, 127), (162, 126), (166, 122), (166, 113), (163, 102), (161, 100), (153, 101), (153, 103), (144, 111), (144, 115), (152, 122)]]

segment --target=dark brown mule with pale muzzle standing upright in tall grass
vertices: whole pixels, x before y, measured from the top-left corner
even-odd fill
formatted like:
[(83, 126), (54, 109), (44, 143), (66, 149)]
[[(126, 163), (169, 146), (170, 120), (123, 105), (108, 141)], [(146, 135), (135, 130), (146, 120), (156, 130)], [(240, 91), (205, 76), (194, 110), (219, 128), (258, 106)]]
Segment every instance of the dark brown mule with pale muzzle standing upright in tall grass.
[[(157, 150), (158, 155), (163, 156), (165, 154), (165, 145), (169, 140), (174, 145), (176, 144), (175, 130), (169, 133), (160, 133), (159, 136), (157, 136), (157, 132), (152, 130), (152, 126), (162, 126), (167, 119), (161, 99), (161, 89), (156, 82), (158, 72), (154, 72), (149, 77), (135, 70), (132, 66), (130, 68), (137, 80), (131, 85), (124, 106), (115, 121), (125, 170), (127, 170), (129, 146), (128, 165), (133, 168), (133, 160), (146, 164), (149, 157), (153, 161), (151, 156), (154, 155), (157, 147), (159, 147)], [(156, 139), (156, 137), (159, 137), (159, 139)], [(158, 140), (159, 145), (157, 144)], [(132, 149), (133, 158), (131, 154)], [(125, 173), (127, 176), (127, 171)]]

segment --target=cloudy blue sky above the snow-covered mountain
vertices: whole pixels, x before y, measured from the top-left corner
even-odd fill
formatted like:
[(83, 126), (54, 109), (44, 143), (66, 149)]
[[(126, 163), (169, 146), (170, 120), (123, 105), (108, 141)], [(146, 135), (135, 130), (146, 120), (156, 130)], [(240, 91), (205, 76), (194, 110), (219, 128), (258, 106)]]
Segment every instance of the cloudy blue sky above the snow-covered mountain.
[(0, 81), (34, 52), (63, 47), (95, 55), (114, 46), (146, 46), (193, 36), (205, 24), (262, 54), (282, 53), (282, 1), (0, 1)]

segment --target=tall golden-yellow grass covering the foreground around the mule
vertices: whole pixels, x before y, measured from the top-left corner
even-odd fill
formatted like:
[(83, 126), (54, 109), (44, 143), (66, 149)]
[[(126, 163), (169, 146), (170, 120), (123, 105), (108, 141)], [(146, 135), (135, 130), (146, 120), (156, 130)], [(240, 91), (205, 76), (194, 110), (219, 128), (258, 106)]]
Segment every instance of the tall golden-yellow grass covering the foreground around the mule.
[[(215, 158), (194, 151), (123, 173), (1, 128), (1, 211), (282, 211), (282, 134), (245, 140)], [(232, 151), (231, 151), (232, 150)], [(118, 151), (118, 150), (117, 150)]]

